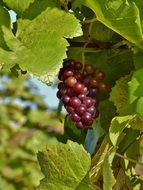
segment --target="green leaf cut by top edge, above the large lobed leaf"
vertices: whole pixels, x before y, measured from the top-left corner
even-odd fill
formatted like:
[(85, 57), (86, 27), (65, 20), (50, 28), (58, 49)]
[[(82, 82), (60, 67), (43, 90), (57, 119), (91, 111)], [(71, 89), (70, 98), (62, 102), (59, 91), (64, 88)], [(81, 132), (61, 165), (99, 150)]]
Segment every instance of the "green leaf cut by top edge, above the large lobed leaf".
[(10, 9), (14, 10), (18, 14), (21, 14), (29, 7), (31, 3), (34, 2), (34, 0), (3, 0), (3, 2), (6, 3)]

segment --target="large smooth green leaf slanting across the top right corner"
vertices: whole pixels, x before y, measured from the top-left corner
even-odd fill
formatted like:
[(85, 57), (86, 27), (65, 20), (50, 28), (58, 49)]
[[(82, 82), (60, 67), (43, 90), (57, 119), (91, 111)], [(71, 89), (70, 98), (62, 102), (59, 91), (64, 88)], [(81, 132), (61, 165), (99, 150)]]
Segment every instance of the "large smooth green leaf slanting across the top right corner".
[(139, 9), (127, 0), (85, 0), (83, 2), (105, 26), (143, 49), (142, 26)]

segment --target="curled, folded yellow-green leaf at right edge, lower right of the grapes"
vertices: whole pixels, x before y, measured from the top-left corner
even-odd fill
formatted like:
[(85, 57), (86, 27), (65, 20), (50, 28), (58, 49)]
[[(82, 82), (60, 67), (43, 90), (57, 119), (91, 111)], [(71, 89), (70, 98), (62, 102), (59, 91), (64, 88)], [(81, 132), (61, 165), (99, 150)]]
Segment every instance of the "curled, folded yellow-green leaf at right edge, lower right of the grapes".
[(127, 115), (114, 117), (109, 128), (109, 136), (112, 144), (117, 146), (122, 138), (125, 128), (143, 130), (143, 120), (138, 115)]

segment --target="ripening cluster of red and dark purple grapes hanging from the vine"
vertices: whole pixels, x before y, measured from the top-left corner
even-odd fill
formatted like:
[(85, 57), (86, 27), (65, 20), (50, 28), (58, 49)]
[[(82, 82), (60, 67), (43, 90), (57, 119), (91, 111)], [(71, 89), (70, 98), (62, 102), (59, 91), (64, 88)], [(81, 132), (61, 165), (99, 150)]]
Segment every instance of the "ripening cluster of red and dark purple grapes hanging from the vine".
[(79, 129), (91, 126), (98, 117), (99, 90), (106, 91), (107, 85), (100, 82), (104, 73), (75, 60), (67, 60), (60, 69), (57, 97), (63, 102), (71, 120)]

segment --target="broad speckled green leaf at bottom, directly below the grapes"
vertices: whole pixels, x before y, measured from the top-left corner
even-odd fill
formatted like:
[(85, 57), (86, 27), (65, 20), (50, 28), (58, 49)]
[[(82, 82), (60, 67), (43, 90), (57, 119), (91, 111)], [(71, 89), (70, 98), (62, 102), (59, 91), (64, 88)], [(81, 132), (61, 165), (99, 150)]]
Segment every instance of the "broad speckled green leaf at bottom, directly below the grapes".
[[(38, 153), (38, 160), (45, 176), (40, 182), (39, 190), (81, 189), (91, 165), (90, 156), (82, 145), (72, 141), (48, 146)], [(83, 190), (86, 189), (92, 190), (93, 187), (86, 184)]]

